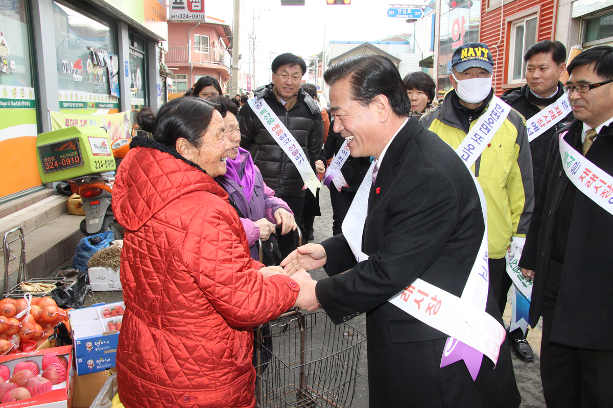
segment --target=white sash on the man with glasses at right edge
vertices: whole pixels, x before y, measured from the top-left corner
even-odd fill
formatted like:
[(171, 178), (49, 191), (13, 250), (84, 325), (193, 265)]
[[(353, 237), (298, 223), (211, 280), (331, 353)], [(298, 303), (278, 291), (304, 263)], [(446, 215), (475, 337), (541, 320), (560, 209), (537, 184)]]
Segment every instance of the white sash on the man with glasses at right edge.
[(562, 168), (566, 176), (579, 191), (613, 214), (613, 177), (568, 144), (564, 139), (566, 133), (559, 136)]

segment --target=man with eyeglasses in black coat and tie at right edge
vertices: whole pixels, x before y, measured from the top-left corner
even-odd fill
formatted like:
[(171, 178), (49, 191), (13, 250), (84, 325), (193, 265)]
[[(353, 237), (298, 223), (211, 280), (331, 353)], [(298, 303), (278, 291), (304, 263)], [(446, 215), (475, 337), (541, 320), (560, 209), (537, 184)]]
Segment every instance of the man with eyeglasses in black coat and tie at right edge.
[(519, 265), (543, 316), (547, 407), (613, 406), (613, 48), (568, 65), (576, 119), (554, 135)]

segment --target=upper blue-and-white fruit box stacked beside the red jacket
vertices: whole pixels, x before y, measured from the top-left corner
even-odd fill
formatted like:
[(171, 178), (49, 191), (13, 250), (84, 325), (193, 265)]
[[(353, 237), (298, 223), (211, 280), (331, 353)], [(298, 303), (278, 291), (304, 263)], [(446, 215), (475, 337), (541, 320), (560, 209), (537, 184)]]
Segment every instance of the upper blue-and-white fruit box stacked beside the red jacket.
[[(105, 310), (112, 312), (115, 308), (120, 308), (118, 309), (120, 313), (117, 313), (116, 316), (105, 317)], [(69, 311), (68, 316), (72, 328), (72, 339), (74, 340), (77, 362), (79, 357), (90, 357), (91, 355), (110, 352), (117, 348), (117, 341), (119, 339), (117, 322), (121, 322), (124, 308), (123, 302), (109, 303), (108, 305), (97, 303), (89, 308)], [(115, 324), (114, 328), (112, 325), (109, 327), (110, 322)], [(88, 360), (89, 358), (85, 362)], [(88, 371), (87, 373), (93, 372)], [(81, 374), (81, 370), (78, 370), (78, 368), (77, 373)]]

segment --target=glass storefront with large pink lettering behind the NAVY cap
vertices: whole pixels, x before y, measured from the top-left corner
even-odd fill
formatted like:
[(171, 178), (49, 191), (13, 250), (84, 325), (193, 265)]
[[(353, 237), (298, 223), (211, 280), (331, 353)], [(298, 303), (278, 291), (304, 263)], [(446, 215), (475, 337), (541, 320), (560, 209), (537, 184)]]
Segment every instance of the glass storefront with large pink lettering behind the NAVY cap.
[(449, 2), (441, 2), (441, 28), (438, 57), (438, 97), (451, 89), (451, 57), (455, 48), (469, 42), (479, 42), (479, 21), (481, 1), (460, 1), (459, 6), (450, 8)]

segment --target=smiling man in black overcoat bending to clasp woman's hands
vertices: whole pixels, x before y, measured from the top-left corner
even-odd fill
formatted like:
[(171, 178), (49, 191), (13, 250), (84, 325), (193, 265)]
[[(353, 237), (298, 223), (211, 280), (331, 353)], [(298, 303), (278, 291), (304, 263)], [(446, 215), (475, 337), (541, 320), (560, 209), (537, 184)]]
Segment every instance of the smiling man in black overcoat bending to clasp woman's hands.
[[(304, 283), (298, 305), (321, 306), (335, 324), (367, 314), (371, 407), (519, 406), (506, 342), (495, 368), (483, 358), (473, 381), (462, 361), (440, 367), (445, 333), (387, 302), (417, 278), (462, 295), (484, 235), (470, 172), (435, 133), (408, 118), (402, 79), (386, 57), (350, 57), (324, 78), (335, 132), (351, 140), (352, 157), (376, 159), (376, 177), (365, 185), (361, 249), (369, 258), (356, 263), (344, 234), (300, 247), (281, 263), (286, 272), (324, 267), (330, 277)], [(486, 311), (502, 323), (491, 291)]]

